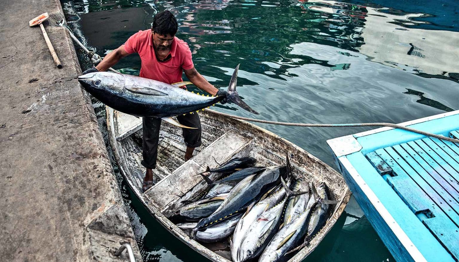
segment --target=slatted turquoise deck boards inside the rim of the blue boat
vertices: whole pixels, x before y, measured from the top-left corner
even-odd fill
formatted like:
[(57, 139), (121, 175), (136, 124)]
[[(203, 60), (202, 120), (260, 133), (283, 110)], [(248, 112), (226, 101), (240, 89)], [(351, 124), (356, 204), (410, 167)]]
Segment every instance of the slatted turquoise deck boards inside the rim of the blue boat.
[[(452, 136), (459, 136), (457, 131)], [(422, 223), (459, 258), (459, 147), (426, 137), (366, 155)]]

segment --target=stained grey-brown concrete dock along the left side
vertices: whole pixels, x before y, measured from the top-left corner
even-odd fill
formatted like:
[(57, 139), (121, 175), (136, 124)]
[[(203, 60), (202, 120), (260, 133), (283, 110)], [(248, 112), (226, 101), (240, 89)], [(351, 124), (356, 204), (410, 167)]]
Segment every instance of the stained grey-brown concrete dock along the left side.
[[(57, 69), (39, 27), (45, 22)], [(129, 261), (134, 239), (59, 0), (0, 8), (0, 257), (2, 261)]]

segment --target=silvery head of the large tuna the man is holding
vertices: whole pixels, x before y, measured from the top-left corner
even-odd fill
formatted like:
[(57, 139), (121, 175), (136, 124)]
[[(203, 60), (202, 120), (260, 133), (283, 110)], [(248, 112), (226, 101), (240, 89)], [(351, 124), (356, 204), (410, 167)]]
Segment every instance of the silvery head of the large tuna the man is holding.
[(125, 80), (122, 74), (113, 72), (93, 72), (78, 76), (78, 82), (88, 92), (103, 91), (118, 94), (123, 91)]

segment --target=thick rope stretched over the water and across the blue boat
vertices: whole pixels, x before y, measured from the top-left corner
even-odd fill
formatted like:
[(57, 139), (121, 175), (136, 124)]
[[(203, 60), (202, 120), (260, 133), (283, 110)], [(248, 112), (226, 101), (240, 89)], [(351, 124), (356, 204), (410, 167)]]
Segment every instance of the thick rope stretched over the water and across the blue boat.
[(226, 113), (218, 112), (212, 109), (206, 109), (207, 111), (211, 111), (212, 113), (215, 113), (217, 115), (224, 115), (228, 116), (231, 118), (235, 119), (240, 119), (240, 120), (246, 120), (250, 122), (257, 122), (257, 123), (263, 123), (263, 124), (272, 124), (272, 125), (280, 125), (280, 126), (302, 126), (302, 127), (357, 127), (357, 126), (389, 126), (393, 128), (399, 128), (411, 132), (415, 132), (421, 135), (425, 136), (431, 136), (435, 137), (438, 139), (446, 140), (449, 142), (454, 142), (454, 143), (459, 143), (459, 139), (454, 139), (448, 136), (441, 136), (429, 132), (425, 132), (422, 130), (414, 129), (408, 126), (400, 126), (397, 124), (392, 124), (392, 123), (351, 123), (351, 124), (305, 124), (305, 123), (288, 123), (288, 122), (277, 122), (277, 121), (269, 121), (269, 120), (259, 120), (259, 119), (253, 119), (253, 118), (248, 118), (248, 117), (243, 117), (243, 116), (237, 116), (237, 115), (229, 115)]

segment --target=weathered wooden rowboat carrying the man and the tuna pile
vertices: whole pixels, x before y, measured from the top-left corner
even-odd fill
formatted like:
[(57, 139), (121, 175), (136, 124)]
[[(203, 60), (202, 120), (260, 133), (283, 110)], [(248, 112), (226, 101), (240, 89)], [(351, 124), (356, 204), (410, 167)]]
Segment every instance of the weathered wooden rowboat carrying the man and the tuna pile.
[[(185, 145), (181, 129), (162, 123), (157, 169), (154, 169), (156, 184), (145, 193), (141, 192), (145, 169), (142, 159), (141, 119), (106, 108), (107, 126), (114, 157), (119, 169), (140, 201), (159, 223), (203, 256), (215, 262), (229, 262), (228, 241), (219, 245), (202, 244), (190, 239), (181, 229), (169, 221), (168, 216), (183, 204), (201, 193), (205, 187), (200, 175), (206, 166), (216, 167), (233, 157), (251, 156), (258, 165), (285, 164), (286, 153), (292, 154), (293, 175), (305, 181), (325, 181), (330, 188), (330, 199), (339, 201), (331, 206), (330, 219), (313, 238), (309, 246), (302, 248), (290, 262), (299, 262), (330, 231), (349, 201), (351, 195), (344, 179), (334, 169), (315, 158), (302, 148), (251, 123), (217, 115), (212, 110), (200, 113), (202, 122), (202, 146), (195, 157), (185, 162)], [(213, 158), (211, 157), (213, 156)], [(219, 174), (211, 175), (217, 179)]]

